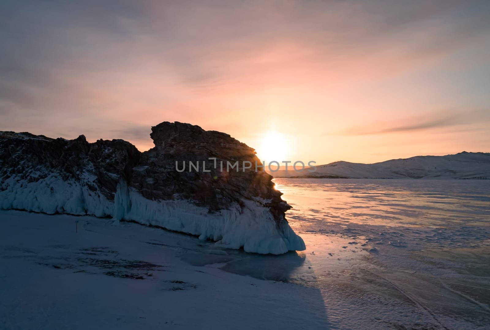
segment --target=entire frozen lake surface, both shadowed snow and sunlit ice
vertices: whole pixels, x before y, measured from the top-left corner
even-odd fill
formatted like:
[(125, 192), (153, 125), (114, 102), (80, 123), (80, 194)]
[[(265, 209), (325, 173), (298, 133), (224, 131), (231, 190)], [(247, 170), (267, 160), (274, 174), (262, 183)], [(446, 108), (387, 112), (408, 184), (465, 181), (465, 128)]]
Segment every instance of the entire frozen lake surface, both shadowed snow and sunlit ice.
[(306, 251), (0, 211), (0, 328), (489, 329), (490, 181), (275, 182)]

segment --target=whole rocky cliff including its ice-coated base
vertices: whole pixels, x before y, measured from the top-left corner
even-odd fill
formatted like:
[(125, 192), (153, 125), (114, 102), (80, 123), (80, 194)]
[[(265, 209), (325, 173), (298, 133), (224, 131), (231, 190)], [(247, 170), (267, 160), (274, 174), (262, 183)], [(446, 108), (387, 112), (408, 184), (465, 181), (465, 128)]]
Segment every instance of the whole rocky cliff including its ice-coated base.
[[(255, 170), (252, 148), (179, 122), (162, 122), (150, 136), (155, 147), (141, 153), (123, 140), (0, 132), (0, 208), (112, 216), (247, 252), (304, 249), (285, 218), (291, 207), (272, 177)], [(237, 162), (238, 171), (227, 168)]]

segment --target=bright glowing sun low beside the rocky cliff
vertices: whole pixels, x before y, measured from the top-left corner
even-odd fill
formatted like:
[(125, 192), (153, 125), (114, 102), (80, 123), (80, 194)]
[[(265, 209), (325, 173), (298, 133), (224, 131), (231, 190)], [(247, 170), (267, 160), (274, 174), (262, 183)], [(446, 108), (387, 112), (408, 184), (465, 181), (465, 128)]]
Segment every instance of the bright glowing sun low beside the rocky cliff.
[(281, 163), (288, 160), (288, 141), (283, 134), (270, 131), (262, 136), (260, 144), (255, 151), (257, 152), (257, 157), (267, 164), (271, 161)]

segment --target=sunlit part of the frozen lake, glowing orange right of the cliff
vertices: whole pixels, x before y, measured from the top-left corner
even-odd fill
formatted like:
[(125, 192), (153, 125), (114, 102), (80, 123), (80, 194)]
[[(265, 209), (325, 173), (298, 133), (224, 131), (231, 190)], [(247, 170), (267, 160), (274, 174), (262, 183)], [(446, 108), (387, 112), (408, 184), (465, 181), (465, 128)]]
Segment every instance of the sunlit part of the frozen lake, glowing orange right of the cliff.
[(347, 328), (490, 327), (489, 181), (274, 181), (307, 250), (224, 269), (317, 287)]

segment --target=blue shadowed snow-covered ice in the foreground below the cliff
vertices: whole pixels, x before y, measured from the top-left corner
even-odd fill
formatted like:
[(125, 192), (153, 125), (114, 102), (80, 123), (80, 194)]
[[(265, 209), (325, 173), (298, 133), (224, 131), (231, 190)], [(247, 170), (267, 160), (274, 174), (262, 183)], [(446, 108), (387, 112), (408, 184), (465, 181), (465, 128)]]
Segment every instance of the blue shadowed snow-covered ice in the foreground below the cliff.
[(193, 266), (179, 256), (239, 253), (194, 236), (20, 211), (0, 226), (0, 329), (328, 329), (319, 289)]

